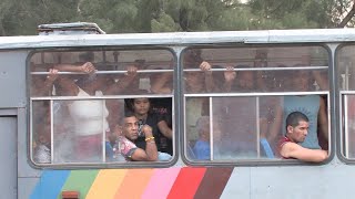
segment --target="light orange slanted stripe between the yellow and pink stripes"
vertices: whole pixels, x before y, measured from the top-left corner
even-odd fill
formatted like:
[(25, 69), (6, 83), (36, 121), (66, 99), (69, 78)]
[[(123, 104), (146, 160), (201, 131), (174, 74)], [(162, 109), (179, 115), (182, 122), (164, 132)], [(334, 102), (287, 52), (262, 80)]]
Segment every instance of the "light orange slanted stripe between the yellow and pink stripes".
[(122, 186), (115, 192), (114, 198), (139, 199), (142, 197), (154, 169), (131, 169), (128, 170)]

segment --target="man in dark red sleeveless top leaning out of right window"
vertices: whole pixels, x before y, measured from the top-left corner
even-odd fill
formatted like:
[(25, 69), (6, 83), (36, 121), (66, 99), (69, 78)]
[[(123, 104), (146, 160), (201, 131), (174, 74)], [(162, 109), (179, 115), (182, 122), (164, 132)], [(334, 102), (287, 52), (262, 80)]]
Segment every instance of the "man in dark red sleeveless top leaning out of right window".
[(327, 158), (327, 151), (308, 149), (298, 145), (308, 134), (310, 121), (301, 112), (293, 112), (286, 118), (286, 135), (280, 140), (280, 154), (283, 158), (295, 158), (303, 161), (321, 163)]

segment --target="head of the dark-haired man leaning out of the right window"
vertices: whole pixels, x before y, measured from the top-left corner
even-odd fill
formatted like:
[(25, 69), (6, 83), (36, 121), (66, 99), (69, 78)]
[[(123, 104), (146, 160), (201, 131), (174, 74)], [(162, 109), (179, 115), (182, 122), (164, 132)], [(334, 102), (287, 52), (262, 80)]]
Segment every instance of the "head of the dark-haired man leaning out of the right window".
[(302, 143), (307, 136), (310, 119), (301, 112), (293, 112), (286, 118), (286, 136), (295, 142)]

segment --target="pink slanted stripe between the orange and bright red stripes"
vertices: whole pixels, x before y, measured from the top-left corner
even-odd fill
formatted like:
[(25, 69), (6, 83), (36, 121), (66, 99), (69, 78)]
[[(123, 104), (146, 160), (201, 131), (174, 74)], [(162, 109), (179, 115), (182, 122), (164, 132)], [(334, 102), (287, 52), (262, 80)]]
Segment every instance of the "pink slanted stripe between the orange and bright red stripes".
[(142, 199), (165, 199), (180, 172), (181, 168), (155, 169), (148, 184)]

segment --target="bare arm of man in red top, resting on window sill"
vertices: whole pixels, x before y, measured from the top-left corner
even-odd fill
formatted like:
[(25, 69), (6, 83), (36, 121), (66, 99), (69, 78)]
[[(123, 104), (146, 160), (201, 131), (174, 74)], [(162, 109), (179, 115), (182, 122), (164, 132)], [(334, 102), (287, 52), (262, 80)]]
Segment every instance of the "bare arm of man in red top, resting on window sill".
[(296, 158), (310, 163), (321, 163), (328, 157), (326, 150), (308, 149), (295, 143), (285, 143), (282, 146), (280, 154), (285, 158)]

